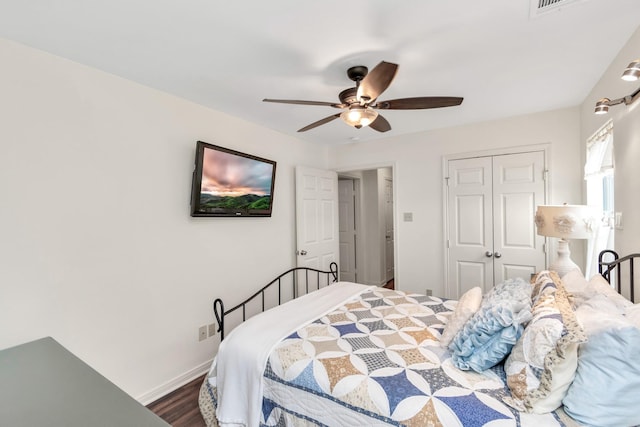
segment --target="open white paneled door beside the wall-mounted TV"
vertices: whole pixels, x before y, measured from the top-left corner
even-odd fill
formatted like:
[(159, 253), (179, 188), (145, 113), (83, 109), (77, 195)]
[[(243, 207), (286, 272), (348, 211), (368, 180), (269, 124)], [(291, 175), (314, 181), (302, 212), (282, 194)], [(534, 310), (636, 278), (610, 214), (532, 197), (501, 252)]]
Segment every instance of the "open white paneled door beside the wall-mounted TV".
[(298, 267), (329, 269), (337, 262), (338, 175), (296, 167), (296, 260)]

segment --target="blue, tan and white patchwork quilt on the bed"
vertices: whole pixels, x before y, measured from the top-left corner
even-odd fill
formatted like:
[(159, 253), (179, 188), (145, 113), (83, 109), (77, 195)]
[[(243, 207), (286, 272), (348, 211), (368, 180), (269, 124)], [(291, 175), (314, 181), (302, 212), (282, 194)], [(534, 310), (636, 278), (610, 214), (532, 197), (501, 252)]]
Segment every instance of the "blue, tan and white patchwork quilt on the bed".
[(373, 288), (301, 327), (269, 356), (261, 425), (564, 426), (507, 406), (502, 365), (453, 365), (439, 337), (455, 304)]

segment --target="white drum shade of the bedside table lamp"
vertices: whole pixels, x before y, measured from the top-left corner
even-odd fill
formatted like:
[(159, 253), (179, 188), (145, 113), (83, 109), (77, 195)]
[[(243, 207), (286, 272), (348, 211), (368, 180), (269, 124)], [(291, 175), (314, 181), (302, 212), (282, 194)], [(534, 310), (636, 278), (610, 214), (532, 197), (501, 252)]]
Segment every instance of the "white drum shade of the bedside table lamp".
[(536, 211), (540, 236), (588, 239), (593, 234), (595, 211), (584, 205), (541, 205)]

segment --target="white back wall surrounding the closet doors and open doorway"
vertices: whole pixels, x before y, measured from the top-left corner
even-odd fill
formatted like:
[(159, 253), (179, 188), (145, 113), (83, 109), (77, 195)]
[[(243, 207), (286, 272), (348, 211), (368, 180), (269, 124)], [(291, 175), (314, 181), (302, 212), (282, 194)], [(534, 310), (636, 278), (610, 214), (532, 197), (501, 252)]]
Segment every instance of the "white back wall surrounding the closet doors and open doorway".
[[(395, 162), (396, 285), (421, 293), (428, 287), (444, 295), (442, 156), (550, 143), (549, 201), (580, 203), (579, 117), (578, 108), (569, 108), (349, 144), (332, 150), (330, 165), (349, 170)], [(412, 212), (413, 222), (402, 222), (403, 212)]]

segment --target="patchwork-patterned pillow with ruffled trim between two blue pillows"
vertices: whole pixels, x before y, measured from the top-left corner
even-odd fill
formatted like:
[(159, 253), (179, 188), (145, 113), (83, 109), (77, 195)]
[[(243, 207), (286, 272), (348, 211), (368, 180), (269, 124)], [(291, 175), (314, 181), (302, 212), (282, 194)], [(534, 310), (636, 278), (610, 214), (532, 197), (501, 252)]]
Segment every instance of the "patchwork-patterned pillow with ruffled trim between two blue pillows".
[(578, 343), (586, 337), (563, 281), (555, 272), (538, 274), (533, 318), (504, 366), (511, 389), (505, 402), (520, 411), (543, 414), (560, 407), (578, 367)]

